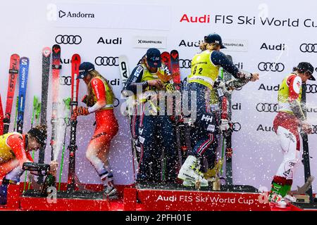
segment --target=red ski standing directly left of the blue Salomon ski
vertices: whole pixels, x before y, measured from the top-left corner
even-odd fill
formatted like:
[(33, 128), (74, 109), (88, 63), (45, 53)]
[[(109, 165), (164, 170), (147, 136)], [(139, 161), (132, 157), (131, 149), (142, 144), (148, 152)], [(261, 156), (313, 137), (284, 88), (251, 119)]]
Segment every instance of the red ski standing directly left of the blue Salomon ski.
[(19, 65), (20, 56), (18, 56), (18, 54), (11, 55), (8, 79), (8, 92), (6, 96), (6, 115), (4, 116), (4, 134), (8, 133), (8, 129), (10, 126), (11, 110), (13, 105), (15, 83), (19, 73)]

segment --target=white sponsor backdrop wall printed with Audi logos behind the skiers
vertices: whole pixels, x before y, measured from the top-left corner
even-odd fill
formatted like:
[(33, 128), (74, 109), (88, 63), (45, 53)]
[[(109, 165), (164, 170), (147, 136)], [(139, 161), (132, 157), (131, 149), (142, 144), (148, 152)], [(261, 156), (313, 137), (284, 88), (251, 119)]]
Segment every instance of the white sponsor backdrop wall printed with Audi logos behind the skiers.
[[(30, 129), (33, 96), (41, 96), (42, 49), (44, 46), (61, 46), (61, 70), (59, 98), (70, 97), (71, 58), (77, 53), (82, 62), (93, 63), (96, 70), (108, 79), (120, 105), (122, 80), (119, 56), (128, 58), (130, 72), (135, 68), (147, 49), (155, 47), (161, 52), (178, 50), (180, 75), (190, 74), (191, 60), (199, 53), (199, 44), (212, 32), (220, 34), (226, 49), (223, 53), (232, 56), (233, 63), (248, 72), (259, 72), (260, 79), (250, 82), (232, 94), (232, 178), (233, 184), (251, 185), (269, 190), (273, 175), (282, 160), (278, 136), (273, 130), (273, 119), (278, 111), (279, 85), (299, 62), (309, 62), (317, 68), (317, 15), (316, 1), (126, 1), (96, 0), (70, 3), (66, 1), (35, 0), (15, 3), (5, 1), (4, 8), (15, 8), (16, 17), (9, 11), (1, 15), (7, 30), (12, 24), (30, 27), (30, 21), (22, 18), (23, 8), (32, 8), (32, 29), (24, 29), (23, 35), (2, 34), (6, 41), (1, 47), (0, 70), (8, 73), (9, 60), (13, 53), (29, 58), (27, 94), (25, 99), (24, 127)], [(285, 6), (287, 5), (287, 10)], [(305, 6), (305, 13), (299, 10)], [(294, 13), (290, 13), (294, 12)], [(19, 16), (21, 15), (21, 16)], [(45, 16), (44, 16), (45, 15)], [(313, 75), (317, 76), (315, 69)], [(51, 75), (47, 121), (51, 131)], [(7, 79), (1, 82), (2, 102), (6, 98)], [(306, 84), (308, 121), (313, 134), (309, 135), (311, 174), (317, 176), (317, 82)], [(15, 91), (16, 92), (16, 91)], [(80, 81), (80, 100), (87, 94), (87, 86)], [(16, 99), (14, 98), (15, 105)], [(134, 182), (131, 150), (131, 134), (128, 117), (121, 115), (120, 105), (115, 108), (119, 131), (111, 142), (109, 162), (113, 169), (115, 184)], [(14, 112), (14, 108), (13, 108)], [(13, 114), (13, 113), (12, 113)], [(11, 122), (13, 116), (11, 116)], [(94, 167), (86, 158), (86, 150), (94, 133), (94, 114), (78, 117), (76, 174), (82, 183), (99, 184)], [(10, 131), (13, 131), (11, 124)], [(69, 131), (68, 131), (69, 133)], [(51, 134), (49, 133), (49, 139)], [(66, 136), (69, 143), (69, 136)], [(220, 145), (221, 147), (221, 145)], [(46, 146), (45, 162), (49, 162), (50, 146)], [(220, 151), (220, 149), (219, 149)], [(64, 155), (68, 162), (68, 153)], [(37, 161), (37, 154), (35, 155)], [(58, 155), (58, 162), (61, 153)], [(67, 164), (67, 163), (66, 163)], [(67, 166), (66, 166), (67, 169)], [(66, 171), (66, 170), (65, 170)], [(66, 181), (67, 172), (62, 181)], [(299, 163), (294, 175), (293, 187), (304, 184), (304, 167)], [(316, 182), (313, 183), (316, 192)]]

